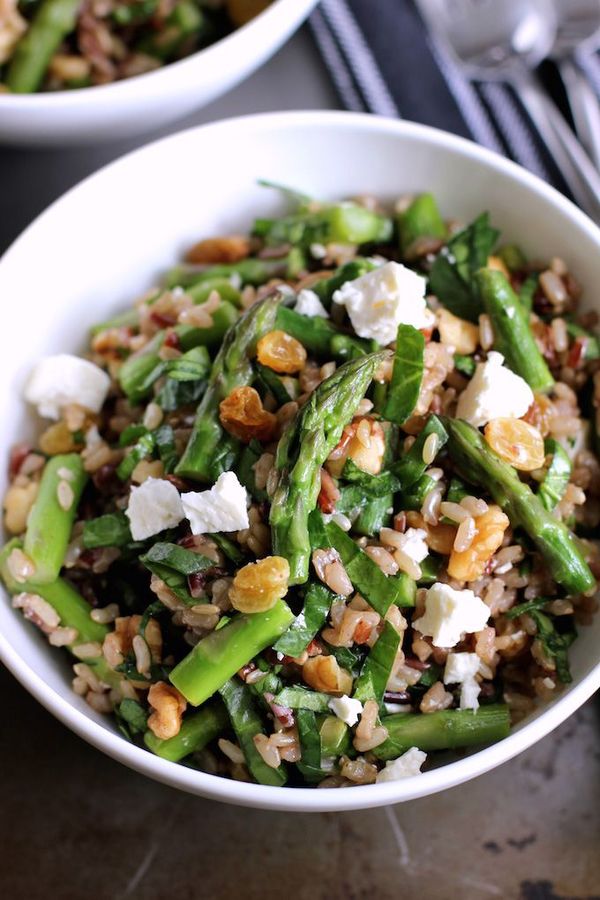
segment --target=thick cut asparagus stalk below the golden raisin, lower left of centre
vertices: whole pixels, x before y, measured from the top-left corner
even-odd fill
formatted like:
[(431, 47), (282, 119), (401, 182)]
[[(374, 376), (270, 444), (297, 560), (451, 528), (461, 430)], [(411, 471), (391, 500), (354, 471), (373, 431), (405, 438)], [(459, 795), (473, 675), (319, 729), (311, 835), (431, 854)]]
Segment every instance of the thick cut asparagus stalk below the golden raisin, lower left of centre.
[(171, 683), (192, 706), (200, 706), (257, 653), (272, 646), (293, 618), (283, 600), (266, 612), (236, 615), (196, 644), (171, 671)]

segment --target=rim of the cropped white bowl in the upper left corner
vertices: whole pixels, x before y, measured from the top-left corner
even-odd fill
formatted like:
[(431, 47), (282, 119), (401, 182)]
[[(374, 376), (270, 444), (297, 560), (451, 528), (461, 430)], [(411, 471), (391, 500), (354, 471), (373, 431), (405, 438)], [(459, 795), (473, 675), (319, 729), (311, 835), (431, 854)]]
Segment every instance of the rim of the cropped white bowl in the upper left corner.
[(213, 44), (208, 44), (208, 46), (190, 53), (189, 56), (161, 65), (150, 72), (142, 72), (139, 75), (132, 75), (119, 81), (111, 81), (108, 84), (96, 84), (70, 90), (34, 91), (31, 94), (0, 93), (0, 109), (6, 106), (7, 110), (15, 111), (20, 107), (27, 107), (27, 112), (34, 113), (41, 109), (50, 111), (56, 110), (57, 107), (61, 109), (65, 107), (72, 108), (79, 106), (83, 97), (86, 98), (86, 104), (95, 103), (100, 105), (104, 102), (110, 103), (115, 100), (115, 95), (117, 94), (119, 99), (124, 99), (127, 94), (137, 93), (138, 86), (142, 80), (147, 90), (151, 92), (153, 86), (158, 86), (159, 79), (163, 81), (166, 79), (165, 72), (172, 73), (169, 77), (177, 78), (178, 74), (184, 76), (186, 69), (189, 69), (188, 75), (191, 75), (191, 69), (197, 64), (200, 57), (202, 57), (203, 62), (206, 62), (207, 67), (210, 68), (219, 55), (235, 53), (234, 45), (236, 43), (244, 40), (246, 37), (249, 41), (252, 40), (254, 32), (258, 32), (263, 27), (268, 29), (271, 22), (276, 22), (278, 17), (283, 17), (288, 9), (290, 10), (290, 17), (293, 15), (293, 18), (296, 19), (297, 11), (295, 5), (298, 2), (304, 4), (308, 15), (312, 6), (318, 0), (274, 0), (270, 6), (263, 9), (262, 12), (250, 19), (249, 22), (246, 22), (245, 25), (240, 25)]

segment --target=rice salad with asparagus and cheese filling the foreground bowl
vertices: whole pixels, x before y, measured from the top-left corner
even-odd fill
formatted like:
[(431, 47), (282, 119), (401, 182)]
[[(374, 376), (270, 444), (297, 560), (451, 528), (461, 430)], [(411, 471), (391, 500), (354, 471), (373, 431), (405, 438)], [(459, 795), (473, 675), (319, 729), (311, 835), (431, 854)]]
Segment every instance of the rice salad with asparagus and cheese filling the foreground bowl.
[(34, 366), (49, 424), (11, 453), (0, 574), (74, 691), (164, 759), (416, 776), (571, 680), (597, 316), (486, 213), (282, 190), (289, 214), (194, 244), (85, 359)]

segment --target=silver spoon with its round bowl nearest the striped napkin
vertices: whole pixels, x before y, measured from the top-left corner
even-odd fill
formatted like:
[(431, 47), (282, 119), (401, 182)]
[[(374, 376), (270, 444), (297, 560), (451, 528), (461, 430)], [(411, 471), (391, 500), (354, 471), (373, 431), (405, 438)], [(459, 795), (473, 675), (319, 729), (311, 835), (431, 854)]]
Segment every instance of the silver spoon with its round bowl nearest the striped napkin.
[(417, 5), (469, 78), (512, 85), (574, 198), (600, 221), (600, 174), (534, 74), (556, 37), (552, 0), (417, 0)]

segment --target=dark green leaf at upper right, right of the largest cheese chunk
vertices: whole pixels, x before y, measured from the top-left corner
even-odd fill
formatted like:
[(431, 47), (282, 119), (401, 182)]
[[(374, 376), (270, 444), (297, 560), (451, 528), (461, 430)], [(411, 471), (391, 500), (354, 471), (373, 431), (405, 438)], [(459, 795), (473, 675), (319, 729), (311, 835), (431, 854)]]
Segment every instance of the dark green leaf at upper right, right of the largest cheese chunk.
[(487, 264), (498, 234), (490, 226), (488, 214), (483, 213), (448, 241), (447, 248), (436, 256), (431, 267), (429, 290), (461, 319), (477, 322), (483, 312), (473, 276)]

